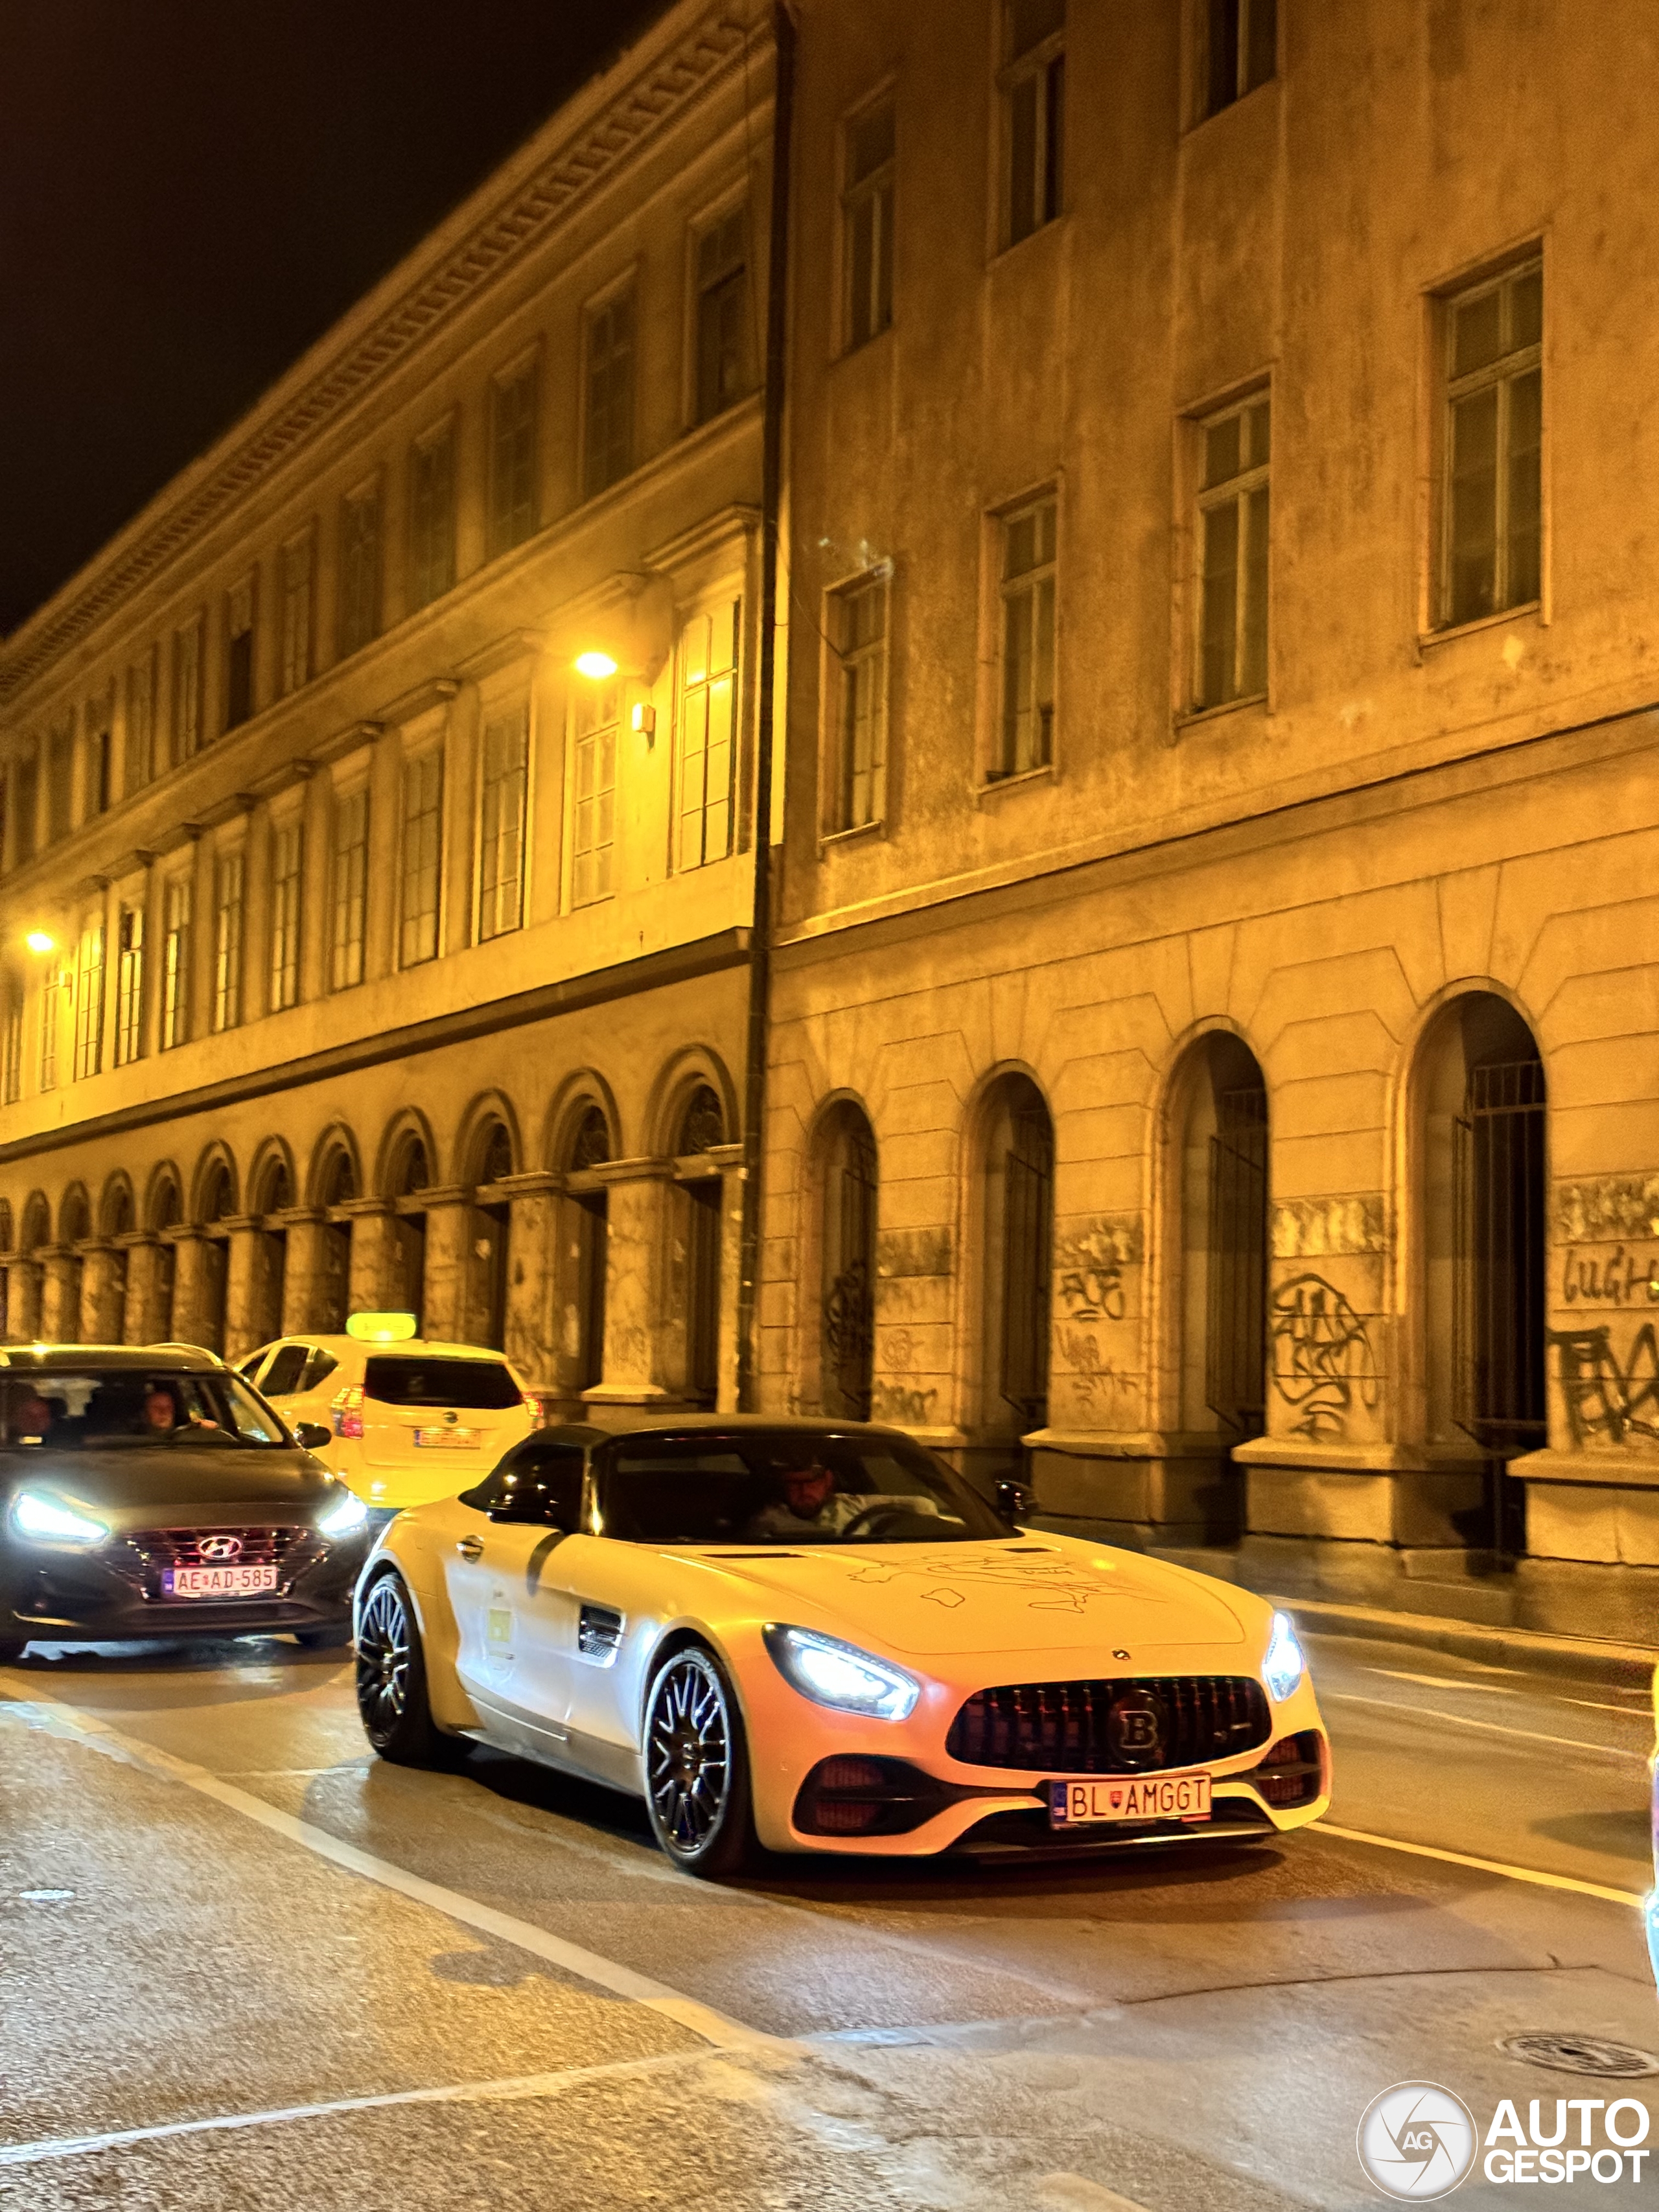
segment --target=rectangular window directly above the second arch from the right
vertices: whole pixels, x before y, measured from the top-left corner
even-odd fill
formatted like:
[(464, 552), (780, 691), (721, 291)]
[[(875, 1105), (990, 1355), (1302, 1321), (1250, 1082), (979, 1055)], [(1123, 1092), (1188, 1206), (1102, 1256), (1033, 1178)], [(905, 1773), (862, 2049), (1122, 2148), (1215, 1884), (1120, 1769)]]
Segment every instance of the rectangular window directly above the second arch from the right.
[(1192, 703), (1225, 706), (1267, 690), (1265, 392), (1199, 427), (1199, 666)]

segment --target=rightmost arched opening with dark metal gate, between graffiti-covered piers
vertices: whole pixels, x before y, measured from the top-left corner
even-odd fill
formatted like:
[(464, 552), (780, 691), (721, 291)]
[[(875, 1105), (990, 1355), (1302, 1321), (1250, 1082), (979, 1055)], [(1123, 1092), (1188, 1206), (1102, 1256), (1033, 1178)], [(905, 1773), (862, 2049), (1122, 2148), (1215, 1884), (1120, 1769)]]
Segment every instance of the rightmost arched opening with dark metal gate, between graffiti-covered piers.
[(1526, 1491), (1506, 1469), (1548, 1438), (1544, 1060), (1506, 1000), (1471, 991), (1427, 1031), (1416, 1093), (1427, 1438), (1480, 1451), (1480, 1511), (1455, 1520), (1513, 1559)]

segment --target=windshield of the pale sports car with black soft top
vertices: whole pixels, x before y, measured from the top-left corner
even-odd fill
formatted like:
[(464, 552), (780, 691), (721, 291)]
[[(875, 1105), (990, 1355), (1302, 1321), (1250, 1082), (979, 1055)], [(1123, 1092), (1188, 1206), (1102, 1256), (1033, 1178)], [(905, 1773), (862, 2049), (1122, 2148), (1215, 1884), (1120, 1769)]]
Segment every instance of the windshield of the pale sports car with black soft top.
[(1011, 1531), (900, 1438), (790, 1429), (626, 1436), (599, 1460), (604, 1533), (635, 1544), (962, 1544)]

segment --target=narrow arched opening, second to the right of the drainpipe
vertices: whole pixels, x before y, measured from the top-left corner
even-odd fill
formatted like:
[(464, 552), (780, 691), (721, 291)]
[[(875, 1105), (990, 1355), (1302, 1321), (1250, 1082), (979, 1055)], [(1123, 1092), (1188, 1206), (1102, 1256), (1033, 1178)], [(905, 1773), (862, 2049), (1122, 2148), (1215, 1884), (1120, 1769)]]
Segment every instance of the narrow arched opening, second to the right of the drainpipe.
[(1013, 1442), (1048, 1420), (1055, 1126), (1029, 1075), (1004, 1075), (984, 1102), (980, 1179), (980, 1422)]

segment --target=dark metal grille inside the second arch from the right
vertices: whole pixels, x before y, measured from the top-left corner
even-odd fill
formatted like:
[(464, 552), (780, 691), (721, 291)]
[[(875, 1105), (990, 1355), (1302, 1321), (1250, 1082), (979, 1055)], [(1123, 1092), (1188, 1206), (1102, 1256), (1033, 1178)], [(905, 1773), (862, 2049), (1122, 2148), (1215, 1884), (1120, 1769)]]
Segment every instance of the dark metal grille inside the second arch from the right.
[(1267, 1422), (1267, 1093), (1223, 1091), (1210, 1137), (1203, 1402), (1239, 1438)]

